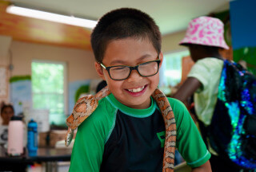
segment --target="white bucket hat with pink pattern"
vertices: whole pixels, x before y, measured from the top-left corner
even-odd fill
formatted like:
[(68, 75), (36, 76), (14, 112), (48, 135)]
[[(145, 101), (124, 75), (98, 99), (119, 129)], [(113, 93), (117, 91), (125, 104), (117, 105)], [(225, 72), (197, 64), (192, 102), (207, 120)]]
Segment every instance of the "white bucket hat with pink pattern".
[(218, 18), (199, 17), (190, 21), (179, 45), (198, 44), (229, 49), (224, 40), (224, 25)]

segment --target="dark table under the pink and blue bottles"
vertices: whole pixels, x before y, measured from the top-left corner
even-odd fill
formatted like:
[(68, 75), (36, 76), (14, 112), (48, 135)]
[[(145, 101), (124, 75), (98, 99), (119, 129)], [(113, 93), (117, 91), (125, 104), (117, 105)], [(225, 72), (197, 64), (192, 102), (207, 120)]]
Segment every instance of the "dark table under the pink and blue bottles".
[[(27, 151), (18, 157), (11, 157), (6, 154), (6, 148), (0, 147), (0, 162), (33, 164), (34, 162), (46, 162), (46, 171), (57, 171), (57, 162), (69, 162), (72, 149), (70, 148), (38, 148), (36, 156), (29, 156)], [(0, 169), (1, 170), (1, 169)]]

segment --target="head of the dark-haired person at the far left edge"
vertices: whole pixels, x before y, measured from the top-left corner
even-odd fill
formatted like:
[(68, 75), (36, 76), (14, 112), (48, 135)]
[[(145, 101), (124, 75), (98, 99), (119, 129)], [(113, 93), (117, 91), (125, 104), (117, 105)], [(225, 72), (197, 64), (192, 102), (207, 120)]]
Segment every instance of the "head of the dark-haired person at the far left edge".
[(14, 115), (14, 107), (11, 104), (2, 103), (1, 106), (1, 118), (2, 125), (8, 125), (10, 118)]

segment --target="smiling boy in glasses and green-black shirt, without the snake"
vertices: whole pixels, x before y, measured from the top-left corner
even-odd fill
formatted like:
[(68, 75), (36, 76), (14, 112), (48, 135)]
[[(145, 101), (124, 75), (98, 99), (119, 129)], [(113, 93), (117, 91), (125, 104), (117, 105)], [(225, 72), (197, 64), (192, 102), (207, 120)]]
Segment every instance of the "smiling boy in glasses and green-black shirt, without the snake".
[[(91, 45), (96, 71), (111, 94), (78, 127), (70, 171), (162, 171), (166, 129), (151, 98), (163, 58), (158, 26), (139, 10), (113, 10), (99, 20)], [(192, 171), (211, 171), (210, 153), (186, 107), (169, 101), (178, 151)]]

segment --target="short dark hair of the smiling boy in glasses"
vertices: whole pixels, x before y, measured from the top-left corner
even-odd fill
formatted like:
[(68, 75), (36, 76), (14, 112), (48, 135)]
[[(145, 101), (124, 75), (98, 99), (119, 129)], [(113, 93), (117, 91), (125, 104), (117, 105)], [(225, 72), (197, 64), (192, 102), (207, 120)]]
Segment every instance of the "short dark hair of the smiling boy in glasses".
[(154, 49), (161, 52), (161, 33), (154, 19), (140, 10), (121, 8), (103, 15), (91, 33), (90, 43), (96, 61), (102, 62), (110, 41), (126, 37), (149, 38)]

